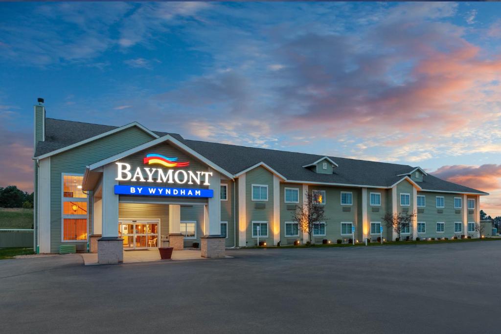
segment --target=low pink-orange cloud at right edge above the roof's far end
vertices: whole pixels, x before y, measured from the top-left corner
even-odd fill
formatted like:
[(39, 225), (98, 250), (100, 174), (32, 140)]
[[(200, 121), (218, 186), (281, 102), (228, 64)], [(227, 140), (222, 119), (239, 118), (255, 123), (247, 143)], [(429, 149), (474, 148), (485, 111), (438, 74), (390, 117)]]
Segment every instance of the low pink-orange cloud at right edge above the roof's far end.
[(501, 164), (442, 166), (431, 174), (450, 182), (486, 192), (501, 189)]

